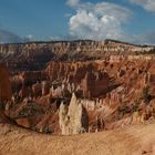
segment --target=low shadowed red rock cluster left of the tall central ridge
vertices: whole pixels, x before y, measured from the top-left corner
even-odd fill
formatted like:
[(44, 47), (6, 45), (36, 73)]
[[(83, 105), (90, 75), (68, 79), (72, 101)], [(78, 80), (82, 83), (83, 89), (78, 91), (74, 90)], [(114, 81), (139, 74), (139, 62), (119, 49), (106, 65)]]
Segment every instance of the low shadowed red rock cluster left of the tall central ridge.
[(50, 91), (49, 76), (44, 71), (21, 72), (11, 78), (13, 93), (21, 99), (46, 95)]

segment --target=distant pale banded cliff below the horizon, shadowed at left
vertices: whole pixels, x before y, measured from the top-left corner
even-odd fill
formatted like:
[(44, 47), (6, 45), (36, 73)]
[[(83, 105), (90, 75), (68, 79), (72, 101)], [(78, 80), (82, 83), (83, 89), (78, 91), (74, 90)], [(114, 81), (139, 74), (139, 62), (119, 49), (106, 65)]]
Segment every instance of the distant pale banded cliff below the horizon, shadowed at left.
[(117, 41), (58, 41), (1, 44), (0, 61), (11, 70), (42, 70), (50, 61), (85, 61), (110, 59), (111, 55), (135, 55), (148, 52), (153, 46), (134, 45)]

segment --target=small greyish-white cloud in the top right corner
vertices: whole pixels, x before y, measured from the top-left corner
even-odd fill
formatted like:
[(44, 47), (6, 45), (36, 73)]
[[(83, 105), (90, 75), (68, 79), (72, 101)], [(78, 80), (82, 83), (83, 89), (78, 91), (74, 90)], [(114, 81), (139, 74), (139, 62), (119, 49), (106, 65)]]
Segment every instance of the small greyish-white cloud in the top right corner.
[(155, 12), (155, 0), (131, 0), (131, 2), (142, 6), (147, 11)]

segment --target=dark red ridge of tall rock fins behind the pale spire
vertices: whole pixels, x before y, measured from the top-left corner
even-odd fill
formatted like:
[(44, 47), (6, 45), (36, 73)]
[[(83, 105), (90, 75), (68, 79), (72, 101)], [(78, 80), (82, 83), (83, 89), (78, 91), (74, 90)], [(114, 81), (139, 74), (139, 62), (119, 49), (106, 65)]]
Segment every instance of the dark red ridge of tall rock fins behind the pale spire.
[[(70, 93), (79, 92), (83, 97), (99, 97), (108, 87), (110, 76), (100, 71), (96, 62), (52, 62), (46, 73), (53, 83), (63, 83)], [(64, 90), (62, 90), (64, 91)]]

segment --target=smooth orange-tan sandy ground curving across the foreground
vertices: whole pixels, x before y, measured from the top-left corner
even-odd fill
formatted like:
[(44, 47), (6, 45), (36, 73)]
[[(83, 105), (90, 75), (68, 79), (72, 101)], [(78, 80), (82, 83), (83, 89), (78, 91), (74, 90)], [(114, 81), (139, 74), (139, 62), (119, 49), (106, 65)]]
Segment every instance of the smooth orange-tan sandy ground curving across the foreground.
[(155, 124), (72, 136), (0, 125), (0, 155), (155, 155)]

